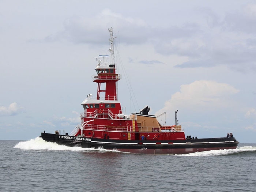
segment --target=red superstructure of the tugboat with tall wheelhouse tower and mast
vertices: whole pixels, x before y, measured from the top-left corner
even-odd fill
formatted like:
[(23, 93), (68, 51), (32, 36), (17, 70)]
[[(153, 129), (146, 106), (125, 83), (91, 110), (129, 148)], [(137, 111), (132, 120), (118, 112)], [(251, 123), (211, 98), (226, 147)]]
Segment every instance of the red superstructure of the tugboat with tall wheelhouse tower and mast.
[[(81, 113), (82, 124), (78, 125), (75, 136), (116, 140), (184, 140), (185, 134), (181, 126), (162, 126), (154, 115), (149, 115), (149, 108), (140, 113), (124, 114), (117, 95), (117, 81), (121, 75), (116, 73), (114, 62), (113, 30), (110, 32), (111, 62), (106, 62), (108, 55), (96, 58), (96, 75), (93, 82), (98, 84), (97, 97), (92, 94), (82, 102), (84, 112)], [(82, 130), (82, 132), (81, 132)]]

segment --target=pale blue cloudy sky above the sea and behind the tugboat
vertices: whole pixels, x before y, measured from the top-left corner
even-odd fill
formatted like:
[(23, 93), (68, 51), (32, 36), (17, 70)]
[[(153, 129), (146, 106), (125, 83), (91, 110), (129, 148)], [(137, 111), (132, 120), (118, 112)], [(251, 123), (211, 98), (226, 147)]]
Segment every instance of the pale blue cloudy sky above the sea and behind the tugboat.
[(174, 125), (178, 110), (185, 135), (256, 143), (256, 1), (247, 0), (0, 0), (0, 140), (80, 123), (110, 27), (125, 113), (149, 106)]

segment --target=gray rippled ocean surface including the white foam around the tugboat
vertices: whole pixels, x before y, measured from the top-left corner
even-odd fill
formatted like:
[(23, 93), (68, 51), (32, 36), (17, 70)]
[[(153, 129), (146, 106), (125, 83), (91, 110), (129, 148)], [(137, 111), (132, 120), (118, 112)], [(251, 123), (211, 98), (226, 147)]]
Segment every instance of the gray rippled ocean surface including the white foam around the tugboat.
[(0, 191), (256, 191), (256, 144), (186, 155), (143, 155), (0, 141)]

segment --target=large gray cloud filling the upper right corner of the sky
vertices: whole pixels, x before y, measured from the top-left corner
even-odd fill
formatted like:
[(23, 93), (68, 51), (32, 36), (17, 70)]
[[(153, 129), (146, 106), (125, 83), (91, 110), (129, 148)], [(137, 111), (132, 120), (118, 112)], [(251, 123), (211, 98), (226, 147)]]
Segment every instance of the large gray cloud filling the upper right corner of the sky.
[[(189, 61), (175, 67), (227, 65), (230, 69), (240, 72), (256, 72), (256, 40), (253, 34), (256, 30), (256, 9), (253, 10), (250, 6), (251, 4), (233, 13), (227, 13), (222, 21), (212, 11), (209, 11), (206, 16), (209, 28), (202, 26), (204, 34), (197, 33), (197, 39), (202, 40), (202, 45), (195, 44), (189, 54), (184, 51), (180, 52), (178, 46), (172, 48), (176, 49), (174, 53), (189, 58)], [(203, 14), (207, 13), (203, 12)]]

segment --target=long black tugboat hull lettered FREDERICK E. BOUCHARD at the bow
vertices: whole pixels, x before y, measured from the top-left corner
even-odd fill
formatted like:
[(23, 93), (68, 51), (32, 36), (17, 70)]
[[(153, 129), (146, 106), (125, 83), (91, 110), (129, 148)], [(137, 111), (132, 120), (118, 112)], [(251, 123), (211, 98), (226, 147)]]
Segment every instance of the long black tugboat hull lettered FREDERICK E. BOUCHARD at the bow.
[(208, 138), (191, 140), (113, 140), (83, 138), (69, 135), (41, 133), (41, 138), (65, 146), (116, 149), (122, 152), (143, 154), (187, 154), (209, 150), (235, 149), (236, 138)]

